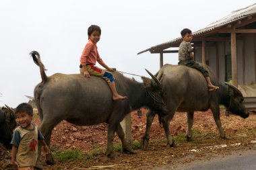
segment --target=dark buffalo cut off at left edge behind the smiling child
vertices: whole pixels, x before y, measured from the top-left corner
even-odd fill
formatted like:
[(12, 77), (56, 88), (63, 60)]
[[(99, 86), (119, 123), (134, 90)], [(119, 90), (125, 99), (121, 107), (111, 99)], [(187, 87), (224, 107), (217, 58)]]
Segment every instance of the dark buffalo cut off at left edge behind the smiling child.
[(12, 130), (15, 128), (16, 122), (13, 110), (8, 106), (0, 108), (0, 142), (6, 147), (11, 148)]

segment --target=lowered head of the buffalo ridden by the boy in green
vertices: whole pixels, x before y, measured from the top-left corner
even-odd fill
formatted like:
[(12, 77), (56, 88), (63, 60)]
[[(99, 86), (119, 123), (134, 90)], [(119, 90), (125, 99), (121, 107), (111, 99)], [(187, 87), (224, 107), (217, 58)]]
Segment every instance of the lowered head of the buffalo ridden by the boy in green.
[(228, 103), (228, 110), (232, 112), (232, 114), (241, 116), (242, 118), (248, 118), (249, 112), (245, 109), (244, 97), (241, 91), (239, 91), (234, 85), (230, 83), (226, 83), (228, 85), (228, 95), (230, 96), (230, 101)]

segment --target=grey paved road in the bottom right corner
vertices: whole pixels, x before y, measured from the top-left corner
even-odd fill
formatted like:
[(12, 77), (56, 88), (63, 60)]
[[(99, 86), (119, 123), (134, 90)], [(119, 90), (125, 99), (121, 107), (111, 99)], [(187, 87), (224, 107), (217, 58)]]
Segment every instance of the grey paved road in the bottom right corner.
[[(238, 151), (211, 161), (195, 161), (176, 170), (255, 170), (256, 151)], [(159, 169), (160, 170), (160, 169)]]

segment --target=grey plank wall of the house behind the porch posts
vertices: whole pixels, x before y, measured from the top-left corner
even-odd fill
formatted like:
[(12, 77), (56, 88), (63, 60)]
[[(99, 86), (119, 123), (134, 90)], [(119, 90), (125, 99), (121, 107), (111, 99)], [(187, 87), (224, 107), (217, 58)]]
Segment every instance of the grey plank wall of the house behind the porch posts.
[[(236, 41), (236, 57), (237, 57), (237, 81), (239, 85), (249, 85), (256, 83), (256, 34), (245, 34), (242, 40)], [(219, 62), (219, 80), (226, 81), (226, 55), (231, 54), (230, 42), (218, 42), (216, 46), (207, 44), (205, 54), (206, 61), (209, 61), (209, 66), (216, 74), (216, 52), (218, 48), (218, 62)], [(245, 49), (243, 49), (245, 48)], [(243, 55), (245, 57), (245, 64), (243, 63)], [(195, 50), (195, 60), (201, 62), (201, 48)], [(243, 68), (245, 65), (245, 68)], [(244, 77), (245, 69), (245, 77)]]

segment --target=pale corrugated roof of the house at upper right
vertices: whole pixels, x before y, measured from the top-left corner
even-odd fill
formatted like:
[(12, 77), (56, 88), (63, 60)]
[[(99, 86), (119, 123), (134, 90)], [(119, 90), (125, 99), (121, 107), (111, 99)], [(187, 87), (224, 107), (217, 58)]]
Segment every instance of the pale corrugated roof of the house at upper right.
[[(256, 3), (253, 5), (250, 5), (248, 7), (238, 9), (236, 11), (232, 11), (229, 15), (226, 17), (223, 17), (222, 19), (219, 19), (216, 22), (213, 22), (212, 24), (209, 24), (205, 28), (202, 28), (201, 30), (198, 30), (196, 32), (193, 32), (193, 36), (200, 36), (201, 34), (205, 34), (207, 32), (212, 32), (216, 28), (220, 28), (221, 26), (228, 25), (232, 22), (235, 22), (238, 19), (243, 19), (249, 15), (256, 14)], [(142, 50), (141, 52), (138, 52), (137, 54), (141, 54), (143, 52), (152, 51), (152, 50), (158, 50), (159, 48), (166, 49), (170, 48), (172, 44), (181, 42), (182, 38), (175, 38), (174, 40), (170, 40), (168, 42), (164, 42), (162, 44), (158, 44), (156, 46), (152, 46), (146, 50)]]

